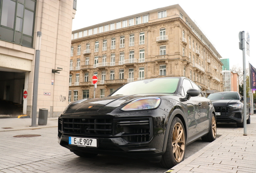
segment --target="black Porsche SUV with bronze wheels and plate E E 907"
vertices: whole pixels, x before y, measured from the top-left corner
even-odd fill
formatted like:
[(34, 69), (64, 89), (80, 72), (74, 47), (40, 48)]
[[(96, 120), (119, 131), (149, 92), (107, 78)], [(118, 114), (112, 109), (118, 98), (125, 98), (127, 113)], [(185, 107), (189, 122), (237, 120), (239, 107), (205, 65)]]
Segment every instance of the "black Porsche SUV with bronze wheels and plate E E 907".
[(127, 83), (108, 97), (70, 103), (58, 120), (58, 142), (78, 156), (144, 158), (165, 168), (182, 162), (198, 138), (215, 140), (215, 111), (185, 77)]

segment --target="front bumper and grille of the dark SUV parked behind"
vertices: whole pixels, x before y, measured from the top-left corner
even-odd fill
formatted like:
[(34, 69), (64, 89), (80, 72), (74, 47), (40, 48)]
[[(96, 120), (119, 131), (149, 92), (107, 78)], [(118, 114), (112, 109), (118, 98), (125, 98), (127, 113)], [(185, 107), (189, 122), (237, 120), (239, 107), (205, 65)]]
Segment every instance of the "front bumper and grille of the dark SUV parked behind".
[[(233, 107), (214, 105), (217, 123), (242, 123), (243, 108), (233, 109)], [(217, 115), (220, 113), (221, 115)]]

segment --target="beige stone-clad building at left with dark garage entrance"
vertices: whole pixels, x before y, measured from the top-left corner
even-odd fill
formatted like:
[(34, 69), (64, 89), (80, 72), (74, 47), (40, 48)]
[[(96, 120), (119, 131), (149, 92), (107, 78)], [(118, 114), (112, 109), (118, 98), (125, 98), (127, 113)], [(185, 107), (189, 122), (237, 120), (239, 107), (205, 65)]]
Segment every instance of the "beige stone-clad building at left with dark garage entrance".
[(76, 0), (2, 0), (0, 12), (0, 99), (23, 104), (23, 113), (31, 116), (35, 45), (41, 31), (37, 113), (45, 108), (48, 117), (57, 117), (68, 104)]

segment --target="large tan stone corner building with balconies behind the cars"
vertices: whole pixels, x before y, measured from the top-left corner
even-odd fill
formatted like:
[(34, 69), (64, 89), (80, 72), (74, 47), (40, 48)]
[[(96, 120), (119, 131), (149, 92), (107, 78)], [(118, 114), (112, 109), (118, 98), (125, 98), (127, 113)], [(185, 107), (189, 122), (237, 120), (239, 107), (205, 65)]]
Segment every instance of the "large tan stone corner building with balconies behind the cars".
[(180, 5), (72, 31), (69, 101), (105, 97), (127, 82), (186, 76), (223, 91), (221, 56)]

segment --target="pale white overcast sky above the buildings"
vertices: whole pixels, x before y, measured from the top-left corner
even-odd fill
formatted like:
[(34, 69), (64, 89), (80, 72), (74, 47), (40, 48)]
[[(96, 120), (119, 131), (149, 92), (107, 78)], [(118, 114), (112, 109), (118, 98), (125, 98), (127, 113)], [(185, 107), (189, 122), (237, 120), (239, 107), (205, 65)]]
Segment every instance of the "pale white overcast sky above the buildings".
[(229, 58), (230, 67), (243, 67), (239, 50), (239, 31), (250, 34), (248, 61), (256, 68), (256, 0), (77, 0), (72, 30), (179, 4), (188, 16), (202, 28), (222, 58)]

